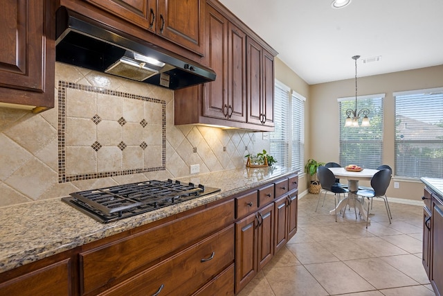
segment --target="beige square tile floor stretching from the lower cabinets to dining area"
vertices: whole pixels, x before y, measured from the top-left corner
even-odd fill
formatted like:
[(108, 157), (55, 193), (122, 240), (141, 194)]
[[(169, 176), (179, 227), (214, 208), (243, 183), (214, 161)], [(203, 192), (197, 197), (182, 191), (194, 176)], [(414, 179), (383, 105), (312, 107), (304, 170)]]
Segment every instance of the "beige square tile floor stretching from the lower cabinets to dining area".
[(239, 296), (434, 296), (422, 266), (422, 207), (374, 200), (371, 223), (329, 215), (333, 195), (299, 200), (298, 231)]

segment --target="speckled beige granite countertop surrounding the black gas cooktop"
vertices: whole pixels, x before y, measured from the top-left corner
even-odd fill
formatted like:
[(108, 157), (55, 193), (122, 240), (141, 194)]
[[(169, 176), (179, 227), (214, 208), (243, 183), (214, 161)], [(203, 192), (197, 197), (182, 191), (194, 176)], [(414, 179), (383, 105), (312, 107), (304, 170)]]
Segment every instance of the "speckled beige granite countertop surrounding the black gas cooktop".
[(226, 198), (292, 173), (289, 168), (283, 167), (241, 168), (178, 178), (181, 182), (204, 184), (220, 188), (221, 191), (108, 224), (90, 218), (60, 198), (3, 207), (0, 215), (0, 272)]

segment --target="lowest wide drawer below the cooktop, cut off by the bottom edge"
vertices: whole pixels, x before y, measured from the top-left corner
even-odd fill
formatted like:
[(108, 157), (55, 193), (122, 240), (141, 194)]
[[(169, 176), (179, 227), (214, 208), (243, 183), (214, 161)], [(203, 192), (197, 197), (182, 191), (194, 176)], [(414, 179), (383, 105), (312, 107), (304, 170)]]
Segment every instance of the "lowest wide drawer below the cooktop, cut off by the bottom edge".
[(234, 295), (234, 264), (231, 264), (224, 272), (217, 275), (206, 286), (198, 290), (192, 296), (218, 296)]

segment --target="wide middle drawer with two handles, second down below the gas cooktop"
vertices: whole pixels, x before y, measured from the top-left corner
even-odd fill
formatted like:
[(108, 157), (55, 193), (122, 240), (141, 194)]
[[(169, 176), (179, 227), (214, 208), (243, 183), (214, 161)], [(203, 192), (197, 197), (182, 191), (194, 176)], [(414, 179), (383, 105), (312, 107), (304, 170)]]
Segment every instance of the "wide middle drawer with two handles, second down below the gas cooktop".
[(190, 295), (234, 262), (234, 225), (101, 295)]

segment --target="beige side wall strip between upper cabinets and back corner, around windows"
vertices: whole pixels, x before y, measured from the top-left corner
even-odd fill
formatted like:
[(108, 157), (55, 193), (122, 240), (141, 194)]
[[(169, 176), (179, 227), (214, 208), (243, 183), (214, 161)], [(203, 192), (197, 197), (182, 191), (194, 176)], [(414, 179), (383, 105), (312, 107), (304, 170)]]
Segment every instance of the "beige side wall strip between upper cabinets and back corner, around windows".
[[(294, 71), (292, 71), (286, 64), (284, 64), (279, 58), (275, 58), (275, 79), (284, 83), (288, 87), (291, 87), (295, 92), (301, 94), (306, 98), (305, 103), (305, 162), (310, 157), (309, 146), (309, 110), (310, 110), (310, 98), (309, 98), (309, 85), (302, 80)], [(300, 179), (298, 180), (298, 191), (301, 193), (307, 189), (307, 178), (303, 172), (298, 172)]]

